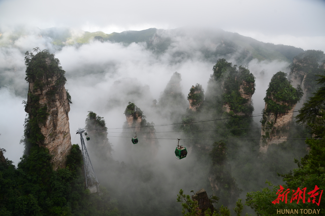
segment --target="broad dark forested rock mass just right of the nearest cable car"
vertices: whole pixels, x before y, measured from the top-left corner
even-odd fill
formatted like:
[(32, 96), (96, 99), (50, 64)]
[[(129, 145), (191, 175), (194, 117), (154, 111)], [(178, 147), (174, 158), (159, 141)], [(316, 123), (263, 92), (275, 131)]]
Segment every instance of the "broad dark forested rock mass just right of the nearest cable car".
[[(255, 138), (258, 131), (247, 129), (256, 127), (253, 125), (252, 118), (240, 118), (234, 112), (251, 114), (253, 106), (249, 105), (249, 99), (243, 98), (242, 95), (245, 97), (252, 95), (254, 87), (255, 78), (247, 67), (233, 66), (231, 62), (219, 59), (213, 67), (205, 100), (197, 111), (188, 109), (182, 118), (183, 123), (188, 123), (180, 127), (185, 131), (186, 138), (190, 139), (187, 146), (193, 146), (197, 157), (209, 165), (206, 168), (208, 179), (211, 185), (214, 185), (212, 186), (214, 195), (220, 197), (220, 204), (224, 206), (236, 202), (241, 192), (233, 173), (241, 173), (244, 172), (243, 170), (248, 173), (256, 172), (253, 169), (254, 157), (247, 157), (243, 152), (247, 149), (256, 152), (258, 142), (236, 140), (236, 138)], [(229, 113), (224, 109), (227, 103), (230, 104)], [(191, 124), (197, 119), (219, 119), (219, 121)], [(208, 141), (209, 139), (221, 141), (211, 142)], [(253, 155), (252, 152), (250, 154)], [(251, 177), (237, 179), (237, 181), (241, 185), (245, 183), (249, 185), (249, 182), (253, 181)]]

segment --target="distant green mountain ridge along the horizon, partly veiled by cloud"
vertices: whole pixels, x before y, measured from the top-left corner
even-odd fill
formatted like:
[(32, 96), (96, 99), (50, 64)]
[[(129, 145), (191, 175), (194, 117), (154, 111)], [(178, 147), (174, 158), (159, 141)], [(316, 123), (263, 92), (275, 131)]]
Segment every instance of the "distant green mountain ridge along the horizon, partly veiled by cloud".
[[(155, 54), (160, 55), (170, 47), (177, 47), (181, 40), (188, 40), (190, 51), (199, 51), (203, 58), (215, 62), (219, 58), (234, 58), (238, 64), (245, 64), (252, 59), (279, 60), (292, 62), (293, 57), (304, 52), (302, 48), (287, 46), (283, 44), (272, 44), (257, 41), (251, 37), (242, 36), (238, 33), (226, 32), (224, 30), (206, 30), (177, 28), (172, 30), (149, 28), (142, 31), (113, 32), (84, 32), (82, 30), (72, 30), (70, 28), (48, 28), (34, 29), (33, 34), (39, 37), (48, 37), (51, 43), (58, 48), (70, 45), (82, 45), (90, 43), (97, 36), (102, 37), (102, 41), (112, 43), (123, 43), (125, 46), (131, 43), (146, 43), (147, 48)], [(7, 46), (14, 43), (21, 36), (26, 36), (27, 30), (16, 30), (15, 32), (0, 36), (0, 46)], [(7, 39), (7, 40), (6, 40)], [(193, 43), (196, 43), (193, 45)], [(193, 46), (193, 47), (191, 47)], [(175, 59), (191, 57), (192, 53), (187, 50), (176, 50), (172, 53)]]

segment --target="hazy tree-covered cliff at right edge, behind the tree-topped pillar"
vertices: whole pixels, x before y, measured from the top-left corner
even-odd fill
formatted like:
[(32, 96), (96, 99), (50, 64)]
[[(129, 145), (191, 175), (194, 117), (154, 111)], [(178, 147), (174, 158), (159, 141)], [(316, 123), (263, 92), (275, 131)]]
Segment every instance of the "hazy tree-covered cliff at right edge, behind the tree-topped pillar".
[(307, 50), (293, 58), (290, 65), (289, 80), (292, 82), (293, 87), (301, 86), (304, 96), (302, 97), (299, 107), (305, 103), (309, 97), (313, 96), (312, 93), (318, 88), (317, 74), (324, 72), (325, 54), (320, 50)]

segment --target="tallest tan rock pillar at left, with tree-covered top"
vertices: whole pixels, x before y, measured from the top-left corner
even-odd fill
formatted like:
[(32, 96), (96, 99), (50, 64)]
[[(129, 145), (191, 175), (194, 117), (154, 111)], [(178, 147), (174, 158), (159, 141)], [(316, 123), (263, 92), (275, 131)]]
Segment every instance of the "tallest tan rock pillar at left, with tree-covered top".
[(47, 51), (30, 56), (26, 80), (29, 88), (25, 111), (29, 114), (30, 127), (40, 128), (38, 137), (31, 142), (49, 150), (54, 169), (63, 168), (72, 145), (70, 95), (64, 88), (66, 79), (59, 60)]

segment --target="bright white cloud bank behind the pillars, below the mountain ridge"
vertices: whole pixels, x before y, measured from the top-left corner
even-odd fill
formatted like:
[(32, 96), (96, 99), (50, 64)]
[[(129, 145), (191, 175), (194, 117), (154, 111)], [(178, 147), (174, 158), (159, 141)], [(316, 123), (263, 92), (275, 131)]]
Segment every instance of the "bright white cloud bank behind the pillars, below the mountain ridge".
[[(211, 43), (209, 37), (193, 40), (195, 33), (191, 33), (193, 37), (174, 37), (170, 47), (162, 55), (153, 54), (146, 49), (144, 43), (124, 46), (119, 43), (96, 41), (78, 47), (66, 46), (58, 49), (51, 44), (50, 38), (36, 35), (21, 36), (14, 45), (0, 49), (0, 55), (3, 57), (0, 58), (0, 94), (3, 101), (6, 101), (1, 107), (1, 117), (8, 118), (9, 112), (9, 116), (15, 119), (10, 127), (16, 128), (10, 130), (10, 133), (0, 131), (0, 142), (2, 148), (14, 150), (7, 151), (5, 156), (15, 163), (19, 162), (23, 150), (23, 146), (19, 145), (25, 117), (21, 102), (26, 100), (28, 91), (28, 84), (24, 80), (24, 52), (32, 51), (32, 46), (55, 53), (66, 71), (66, 89), (69, 89), (73, 102), (69, 113), (72, 143), (80, 142), (74, 131), (85, 126), (88, 111), (104, 117), (108, 128), (121, 128), (125, 121), (123, 112), (129, 101), (136, 103), (144, 111), (147, 121), (155, 124), (166, 123), (166, 120), (160, 119), (150, 110), (150, 106), (152, 100), (159, 100), (172, 74), (176, 71), (181, 74), (182, 92), (187, 96), (191, 86), (196, 83), (206, 89), (215, 64), (204, 59), (200, 48), (214, 49), (216, 45)], [(184, 55), (175, 59), (175, 53)], [(236, 64), (234, 58), (228, 61)], [(270, 78), (280, 70), (285, 71), (288, 62), (253, 60), (247, 66), (256, 77), (254, 113), (261, 113)], [(258, 118), (254, 120), (259, 121)], [(1, 127), (8, 130), (6, 125), (6, 121), (1, 121)], [(15, 139), (12, 139), (13, 137)], [(116, 146), (114, 139), (112, 138), (111, 142)]]

